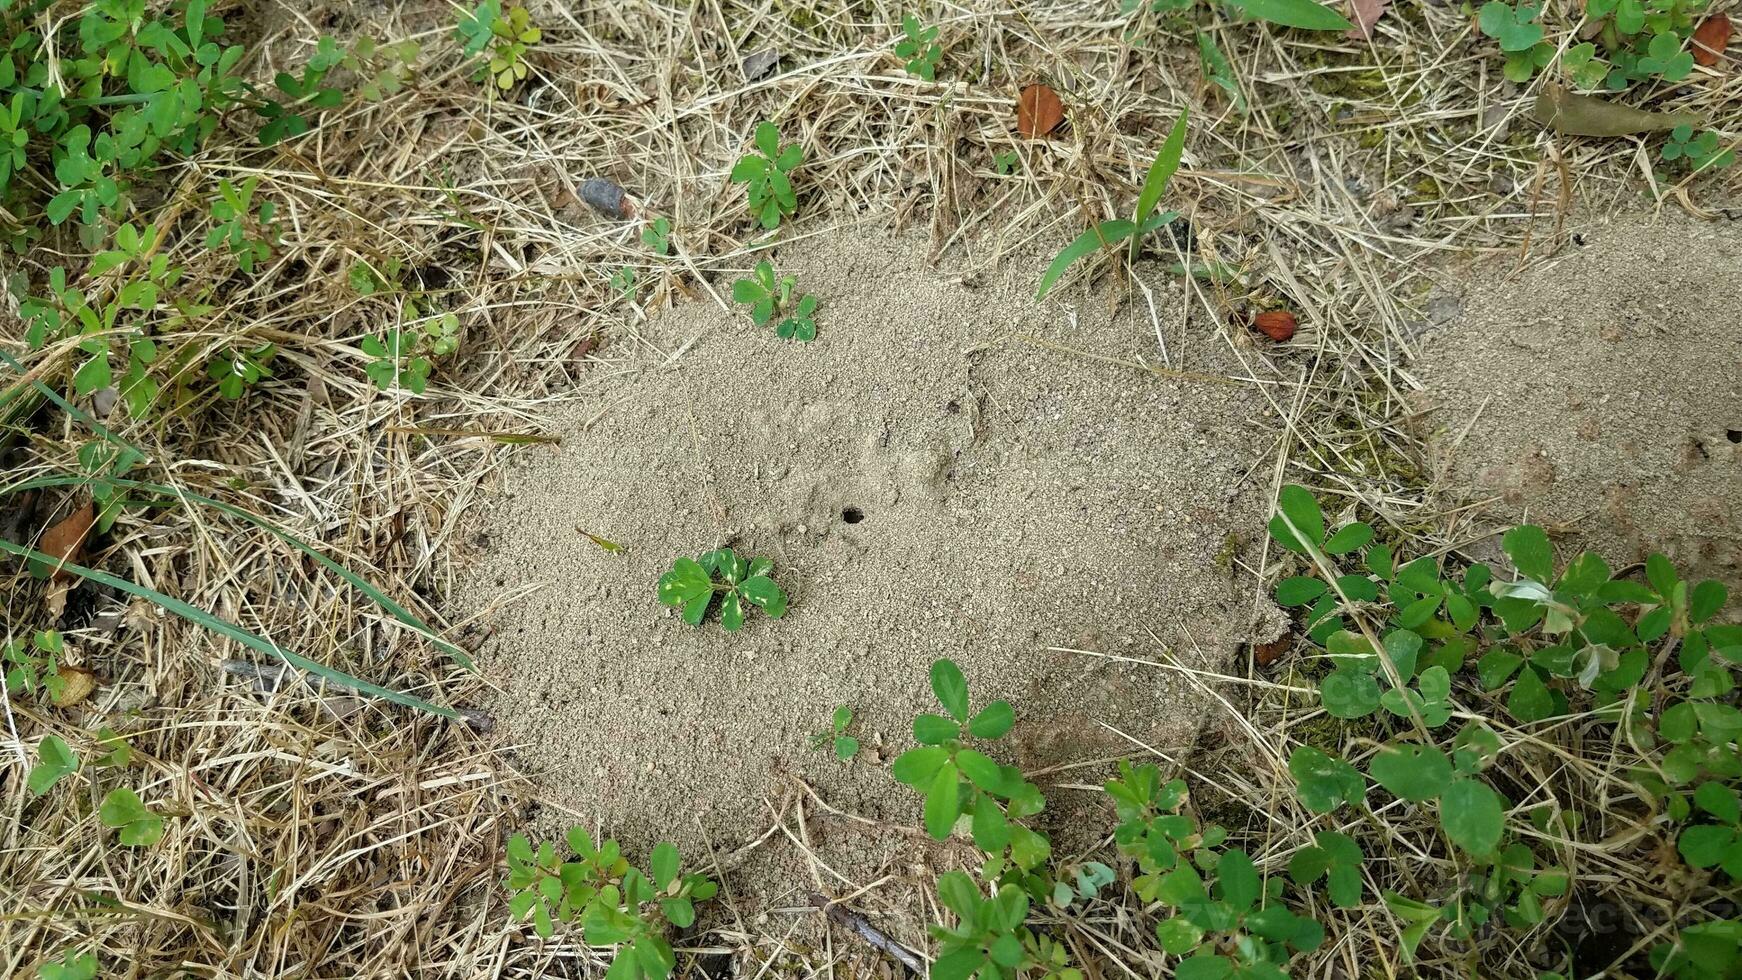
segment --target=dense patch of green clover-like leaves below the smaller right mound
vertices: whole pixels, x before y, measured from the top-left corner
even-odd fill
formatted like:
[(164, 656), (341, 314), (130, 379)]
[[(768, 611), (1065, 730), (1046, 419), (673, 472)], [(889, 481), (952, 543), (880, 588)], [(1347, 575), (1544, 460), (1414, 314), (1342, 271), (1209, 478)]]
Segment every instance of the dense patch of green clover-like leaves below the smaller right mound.
[[(1284, 487), (1270, 534), (1306, 564), (1277, 599), (1301, 609), (1322, 648), (1326, 712), (1373, 731), (1362, 740), (1373, 748), (1354, 759), (1294, 748), (1287, 768), (1301, 802), (1380, 813), (1367, 809), (1371, 782), (1434, 815), (1465, 865), (1460, 888), (1437, 902), (1383, 895), (1406, 952), (1430, 933), (1469, 942), (1496, 926), (1540, 928), (1573, 888), (1570, 849), (1601, 846), (1582, 839), (1585, 813), (1514, 806), (1516, 775), (1495, 773), (1512, 748), (1500, 731), (1535, 738), (1587, 719), (1596, 731), (1582, 738), (1631, 747), (1610, 778), (1662, 815), (1657, 853), (1672, 841), (1693, 870), (1742, 872), (1742, 708), (1732, 703), (1742, 627), (1719, 618), (1723, 583), (1683, 581), (1662, 555), (1637, 578), (1589, 552), (1561, 567), (1547, 533), (1528, 524), (1500, 538), (1510, 569), (1399, 562), (1367, 524), (1331, 531), (1301, 487)], [(1463, 719), (1456, 729), (1453, 717)], [(1319, 832), (1289, 872), (1348, 907), (1362, 898), (1359, 867), (1357, 841)], [(1678, 923), (1676, 933), (1651, 952), (1665, 975), (1719, 977), (1739, 964), (1733, 923)]]

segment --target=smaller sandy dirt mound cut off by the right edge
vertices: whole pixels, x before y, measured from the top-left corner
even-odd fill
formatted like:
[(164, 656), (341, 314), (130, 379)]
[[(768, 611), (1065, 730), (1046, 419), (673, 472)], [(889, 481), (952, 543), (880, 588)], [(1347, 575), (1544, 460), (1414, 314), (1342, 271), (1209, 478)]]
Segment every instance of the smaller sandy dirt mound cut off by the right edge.
[(1742, 583), (1742, 225), (1622, 216), (1484, 275), (1418, 371), (1455, 496)]

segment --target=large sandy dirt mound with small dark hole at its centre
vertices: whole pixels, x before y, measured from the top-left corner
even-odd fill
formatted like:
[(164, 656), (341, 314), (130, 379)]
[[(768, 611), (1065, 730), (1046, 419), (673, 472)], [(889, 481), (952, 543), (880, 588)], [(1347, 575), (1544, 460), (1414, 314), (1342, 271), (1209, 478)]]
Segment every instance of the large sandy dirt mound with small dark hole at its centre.
[[(965, 285), (874, 237), (807, 240), (775, 265), (822, 298), (814, 343), (711, 301), (660, 315), (645, 355), (568, 406), (559, 449), (519, 454), (488, 520), (458, 601), (540, 588), (486, 616), (479, 654), (549, 797), (625, 842), (693, 842), (699, 816), (721, 846), (803, 776), (833, 806), (915, 825), (918, 797), (873, 747), (911, 745), (941, 656), (976, 703), (1016, 705), (1007, 750), (1030, 769), (1134, 750), (1101, 722), (1190, 745), (1190, 681), (1047, 648), (1216, 667), (1249, 639), (1235, 559), (1252, 557), (1270, 472), (1252, 388), (1134, 366), (1155, 357), (1146, 308), (1110, 317), (1101, 292), (1036, 306), (1030, 270)], [(1178, 331), (1183, 292), (1165, 296)], [(1225, 339), (1185, 339), (1186, 367), (1239, 374)], [(657, 602), (676, 555), (718, 545), (775, 559), (784, 620), (726, 634)], [(848, 766), (808, 742), (843, 703), (869, 755)]]

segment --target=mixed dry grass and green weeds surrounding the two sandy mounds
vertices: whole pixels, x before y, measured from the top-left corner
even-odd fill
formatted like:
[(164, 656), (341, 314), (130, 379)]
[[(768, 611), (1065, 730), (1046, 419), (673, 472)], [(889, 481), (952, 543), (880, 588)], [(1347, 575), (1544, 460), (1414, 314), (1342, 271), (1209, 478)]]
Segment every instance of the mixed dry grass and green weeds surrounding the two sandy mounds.
[[(1284, 496), (1277, 595), (1303, 639), (1242, 672), (1239, 731), (1265, 738), (1225, 752), (1134, 754), (1054, 790), (1014, 771), (1021, 701), (967, 701), (937, 668), (913, 731), (930, 742), (901, 775), (913, 837), (972, 860), (939, 865), (935, 930), (901, 942), (941, 975), (1737, 973), (1728, 595), (1664, 562), (1556, 564), (1528, 529), (1488, 571), (1456, 557), (1420, 507), (1395, 353), (1421, 298), (1409, 259), (1545, 242), (1526, 216), (1557, 193), (1733, 190), (1721, 9), (0, 7), (9, 977), (883, 957), (857, 928), (707, 931), (733, 909), (674, 849), (643, 870), (591, 837), (561, 860), (510, 842), (538, 790), (460, 708), (483, 691), (441, 602), (453, 520), (493, 451), (556, 439), (537, 404), (636, 317), (746, 268), (746, 214), (794, 237), (890, 214), (948, 247), (1023, 242), (1012, 261), (1089, 228), (1071, 261), (1117, 244), (1129, 261), (1171, 251), (1146, 237), (1164, 193), (1136, 183), (1162, 171), (1188, 263), (1240, 273), (1183, 284), (1193, 315), (1319, 312), (1310, 367), (1247, 353), (1293, 406), (1286, 470), (1345, 527), (1320, 513), (1320, 534)], [(1343, 38), (1352, 23), (1366, 37)], [(892, 24), (913, 45), (894, 59)], [(777, 70), (758, 73), (765, 50)], [(1070, 113), (1028, 138), (1010, 117), (1035, 78)], [(1545, 136), (1509, 115), (1509, 78), (1700, 118)], [(570, 200), (594, 171), (632, 214)], [(1108, 235), (1129, 200), (1132, 233)], [(1143, 303), (1117, 277), (1089, 289)], [(805, 299), (761, 322), (810, 339)], [(753, 581), (772, 585), (747, 559), (693, 564), (707, 590), (679, 576), (685, 616), (716, 594), (723, 623), (728, 595), (747, 616)], [(855, 738), (827, 721), (819, 766)], [(1047, 797), (1094, 785), (1111, 839), (1057, 853)], [(894, 917), (834, 884), (836, 907)]]

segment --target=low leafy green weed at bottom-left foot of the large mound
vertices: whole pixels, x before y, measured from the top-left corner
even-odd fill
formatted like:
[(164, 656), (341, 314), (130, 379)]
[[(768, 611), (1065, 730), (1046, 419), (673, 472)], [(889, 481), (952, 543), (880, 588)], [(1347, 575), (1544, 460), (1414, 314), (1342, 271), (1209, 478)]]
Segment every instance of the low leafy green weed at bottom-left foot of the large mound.
[(580, 923), (582, 942), (617, 947), (608, 980), (665, 980), (678, 957), (665, 938), (672, 926), (695, 923), (695, 903), (714, 896), (718, 886), (700, 874), (683, 874), (678, 848), (653, 848), (648, 872), (629, 865), (617, 841), (594, 846), (580, 827), (570, 829), (568, 860), (557, 860), (556, 846), (535, 849), (516, 834), (509, 839), (509, 910), (516, 919), (531, 919), (542, 938), (556, 933), (556, 923)]

